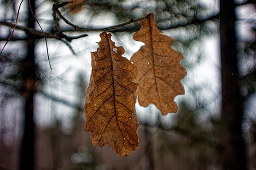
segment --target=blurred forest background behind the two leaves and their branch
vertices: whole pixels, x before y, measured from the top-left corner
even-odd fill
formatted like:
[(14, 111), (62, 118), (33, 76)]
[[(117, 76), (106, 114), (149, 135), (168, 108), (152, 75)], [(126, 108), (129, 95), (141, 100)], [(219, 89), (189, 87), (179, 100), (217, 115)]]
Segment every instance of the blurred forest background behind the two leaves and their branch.
[[(20, 0), (0, 0), (0, 49), (15, 25)], [(31, 1), (45, 33), (56, 33), (52, 6)], [(256, 169), (255, 1), (74, 0), (59, 10), (83, 28), (103, 28), (155, 14), (184, 59), (186, 94), (179, 111), (161, 116), (136, 104), (139, 150), (121, 158), (91, 145), (85, 123), (90, 52), (100, 31), (77, 31), (62, 19), (67, 39), (44, 37), (28, 1), (0, 57), (0, 169)], [(28, 29), (30, 28), (30, 29)], [(128, 59), (143, 45), (140, 22), (112, 29)], [(84, 34), (88, 36), (83, 37)], [(76, 55), (75, 55), (75, 54)], [(222, 83), (221, 83), (222, 82)]]

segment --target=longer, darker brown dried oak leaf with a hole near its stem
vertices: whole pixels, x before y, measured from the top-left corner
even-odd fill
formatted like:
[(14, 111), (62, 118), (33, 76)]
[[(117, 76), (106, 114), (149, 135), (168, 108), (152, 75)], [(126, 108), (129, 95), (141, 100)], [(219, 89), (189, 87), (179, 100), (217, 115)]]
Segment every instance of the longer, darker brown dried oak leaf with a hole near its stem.
[(111, 33), (100, 33), (99, 48), (91, 53), (91, 78), (86, 91), (85, 131), (93, 145), (109, 145), (116, 154), (127, 156), (137, 150), (139, 121), (135, 111), (136, 66), (122, 57), (124, 48), (115, 46)]

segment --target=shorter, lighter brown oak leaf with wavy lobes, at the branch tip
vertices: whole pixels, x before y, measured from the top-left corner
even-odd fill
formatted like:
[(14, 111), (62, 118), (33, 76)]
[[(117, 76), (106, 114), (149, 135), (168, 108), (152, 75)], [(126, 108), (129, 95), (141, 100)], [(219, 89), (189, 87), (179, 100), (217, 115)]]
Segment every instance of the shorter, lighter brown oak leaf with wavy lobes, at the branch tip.
[(133, 54), (131, 61), (139, 71), (134, 80), (139, 83), (139, 104), (146, 107), (153, 103), (166, 115), (178, 111), (174, 97), (184, 94), (181, 79), (186, 71), (179, 64), (182, 54), (171, 48), (174, 39), (161, 33), (154, 22), (154, 14), (141, 20), (141, 29), (133, 35), (133, 39), (145, 45)]

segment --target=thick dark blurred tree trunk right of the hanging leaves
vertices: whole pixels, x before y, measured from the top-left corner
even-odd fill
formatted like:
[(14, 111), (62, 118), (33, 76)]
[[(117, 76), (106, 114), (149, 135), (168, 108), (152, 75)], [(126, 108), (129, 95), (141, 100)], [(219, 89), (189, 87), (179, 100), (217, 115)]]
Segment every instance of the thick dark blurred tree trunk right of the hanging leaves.
[(222, 0), (220, 5), (222, 119), (226, 126), (226, 133), (223, 133), (223, 166), (224, 169), (247, 169), (245, 141), (241, 131), (244, 99), (240, 95), (234, 28), (236, 6), (231, 0)]

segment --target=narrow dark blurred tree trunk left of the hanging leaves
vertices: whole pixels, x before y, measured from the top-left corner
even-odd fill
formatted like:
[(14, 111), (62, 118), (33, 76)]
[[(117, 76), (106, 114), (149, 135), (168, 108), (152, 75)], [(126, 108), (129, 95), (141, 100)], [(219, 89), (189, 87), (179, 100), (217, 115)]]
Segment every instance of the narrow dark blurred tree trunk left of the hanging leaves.
[[(35, 14), (35, 1), (30, 1)], [(28, 5), (28, 9), (29, 9)], [(35, 20), (31, 11), (28, 14), (28, 27), (35, 28)], [(28, 33), (27, 57), (20, 63), (20, 73), (23, 76), (23, 97), (25, 99), (24, 131), (22, 149), (20, 153), (20, 169), (34, 168), (34, 123), (33, 123), (33, 97), (36, 92), (36, 65), (35, 65), (35, 36)]]

